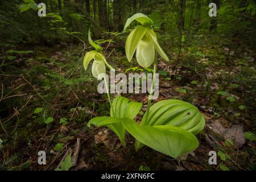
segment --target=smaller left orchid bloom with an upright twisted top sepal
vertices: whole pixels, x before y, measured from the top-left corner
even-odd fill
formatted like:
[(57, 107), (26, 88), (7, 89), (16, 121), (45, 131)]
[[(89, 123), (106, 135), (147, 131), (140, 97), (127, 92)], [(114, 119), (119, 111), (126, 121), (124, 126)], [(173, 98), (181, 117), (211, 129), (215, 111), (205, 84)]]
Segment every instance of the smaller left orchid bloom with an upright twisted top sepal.
[(105, 56), (101, 53), (102, 47), (100, 47), (98, 44), (94, 43), (92, 38), (90, 38), (90, 30), (88, 32), (88, 40), (89, 44), (93, 46), (96, 51), (90, 51), (87, 52), (84, 56), (84, 68), (85, 70), (88, 68), (88, 64), (93, 59), (93, 65), (92, 65), (92, 75), (96, 78), (98, 78), (98, 75), (101, 73), (106, 73), (106, 67), (109, 67), (109, 69), (113, 69), (106, 61)]

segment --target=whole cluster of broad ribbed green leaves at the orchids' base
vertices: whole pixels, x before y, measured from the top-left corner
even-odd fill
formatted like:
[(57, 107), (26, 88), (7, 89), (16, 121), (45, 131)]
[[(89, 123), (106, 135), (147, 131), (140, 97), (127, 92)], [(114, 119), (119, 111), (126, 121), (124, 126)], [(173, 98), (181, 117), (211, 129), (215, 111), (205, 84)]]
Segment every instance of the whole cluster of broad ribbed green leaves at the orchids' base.
[(111, 117), (93, 118), (88, 122), (88, 126), (108, 126), (123, 144), (127, 130), (137, 139), (137, 150), (146, 144), (174, 158), (198, 147), (199, 142), (192, 133), (199, 133), (204, 128), (205, 121), (195, 106), (178, 100), (160, 101), (151, 107), (148, 117), (150, 119), (145, 121), (144, 115), (141, 124), (138, 125), (133, 118), (141, 106), (142, 104), (129, 101), (125, 97), (116, 97), (113, 101), (113, 110), (110, 111)]

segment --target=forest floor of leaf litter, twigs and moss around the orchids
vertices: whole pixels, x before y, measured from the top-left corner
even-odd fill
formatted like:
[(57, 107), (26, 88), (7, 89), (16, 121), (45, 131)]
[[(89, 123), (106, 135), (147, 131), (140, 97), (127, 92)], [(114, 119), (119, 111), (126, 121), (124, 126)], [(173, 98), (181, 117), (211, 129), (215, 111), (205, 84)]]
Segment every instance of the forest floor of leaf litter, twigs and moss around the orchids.
[[(110, 107), (106, 94), (97, 92), (99, 81), (88, 75), (90, 70), (84, 71), (81, 46), (12, 49), (32, 52), (5, 55), (9, 61), (1, 65), (0, 169), (53, 170), (70, 153), (75, 163), (71, 170), (138, 170), (141, 166), (151, 170), (256, 169), (256, 143), (243, 134), (256, 131), (255, 101), (246, 108), (241, 106), (245, 105), (241, 104), (243, 93), (254, 93), (235, 82), (228, 86), (228, 93), (218, 93), (225, 86), (219, 72), (228, 72), (229, 65), (207, 63), (210, 57), (195, 55), (193, 61), (206, 64), (203, 69), (213, 80), (205, 84), (200, 71), (194, 75), (186, 67), (177, 69), (174, 80), (173, 64), (159, 59), (160, 94), (156, 101), (175, 98), (190, 102), (206, 120), (204, 131), (197, 135), (199, 148), (173, 159), (149, 147), (135, 152), (134, 139), (128, 134), (124, 148), (107, 127), (86, 127), (91, 118), (108, 115)], [(225, 52), (225, 47), (219, 49)], [(207, 51), (201, 49), (201, 53), (210, 55), (216, 47)], [(134, 60), (129, 63), (121, 51), (104, 54), (117, 72), (137, 66)], [(183, 60), (186, 56), (188, 52), (181, 54)], [(237, 65), (234, 74), (239, 69)], [(136, 117), (139, 121), (146, 110), (147, 94), (125, 96), (143, 102), (141, 114)], [(46, 165), (38, 164), (39, 151), (46, 151)], [(209, 151), (218, 153), (216, 165), (208, 163)]]

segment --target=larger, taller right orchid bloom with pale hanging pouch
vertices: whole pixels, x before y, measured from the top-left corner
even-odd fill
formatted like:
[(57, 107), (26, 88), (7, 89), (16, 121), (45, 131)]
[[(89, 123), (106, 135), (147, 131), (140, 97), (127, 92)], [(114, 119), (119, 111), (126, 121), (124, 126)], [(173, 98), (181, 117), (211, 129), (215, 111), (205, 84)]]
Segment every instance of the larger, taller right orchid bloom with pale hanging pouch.
[(151, 25), (153, 21), (146, 15), (137, 13), (127, 19), (124, 30), (126, 30), (133, 20), (137, 20), (137, 22), (142, 25), (137, 26), (127, 37), (125, 52), (128, 61), (131, 61), (136, 50), (136, 59), (139, 65), (144, 68), (148, 68), (154, 63), (155, 50), (164, 60), (169, 61), (166, 53), (164, 53), (163, 49), (158, 44), (155, 32), (152, 30)]

